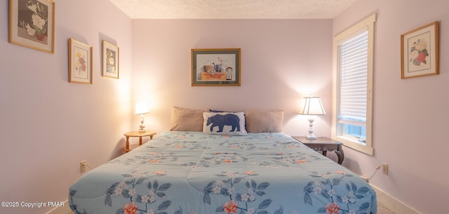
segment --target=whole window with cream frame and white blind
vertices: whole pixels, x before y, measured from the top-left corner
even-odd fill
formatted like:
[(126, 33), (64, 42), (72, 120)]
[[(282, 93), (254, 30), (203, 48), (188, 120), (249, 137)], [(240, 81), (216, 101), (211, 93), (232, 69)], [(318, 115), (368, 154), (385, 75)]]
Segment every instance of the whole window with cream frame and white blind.
[(376, 15), (334, 37), (332, 138), (373, 155), (373, 40)]

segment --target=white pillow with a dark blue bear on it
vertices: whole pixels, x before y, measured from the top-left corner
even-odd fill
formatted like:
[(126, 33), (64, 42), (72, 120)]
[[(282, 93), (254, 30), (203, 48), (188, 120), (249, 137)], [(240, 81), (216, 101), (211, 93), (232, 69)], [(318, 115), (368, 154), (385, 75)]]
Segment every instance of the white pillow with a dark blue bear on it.
[(205, 134), (247, 135), (243, 112), (203, 112), (203, 121)]

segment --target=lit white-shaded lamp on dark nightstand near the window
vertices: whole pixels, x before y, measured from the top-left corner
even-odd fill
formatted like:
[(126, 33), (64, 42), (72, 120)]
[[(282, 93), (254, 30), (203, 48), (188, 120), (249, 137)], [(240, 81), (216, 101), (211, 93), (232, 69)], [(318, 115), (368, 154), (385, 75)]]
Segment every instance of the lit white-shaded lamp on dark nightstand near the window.
[[(323, 103), (321, 103), (321, 99), (319, 97), (309, 96), (304, 98), (304, 106), (298, 112), (298, 114), (302, 115), (324, 115), (326, 112), (323, 108)], [(315, 140), (316, 136), (314, 135), (314, 117), (309, 117), (309, 134), (306, 136), (309, 140)]]

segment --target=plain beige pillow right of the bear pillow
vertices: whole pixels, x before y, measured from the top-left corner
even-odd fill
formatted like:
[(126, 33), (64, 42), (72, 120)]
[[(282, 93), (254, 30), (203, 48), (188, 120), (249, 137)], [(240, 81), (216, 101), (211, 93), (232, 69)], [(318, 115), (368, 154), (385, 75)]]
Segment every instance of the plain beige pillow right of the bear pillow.
[(283, 111), (245, 111), (248, 133), (279, 133), (282, 131)]

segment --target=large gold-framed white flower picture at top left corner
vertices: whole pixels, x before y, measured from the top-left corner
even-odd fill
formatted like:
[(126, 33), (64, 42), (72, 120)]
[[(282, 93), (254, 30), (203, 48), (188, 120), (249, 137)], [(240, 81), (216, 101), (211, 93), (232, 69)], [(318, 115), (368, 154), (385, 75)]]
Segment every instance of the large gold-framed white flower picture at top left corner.
[(55, 53), (55, 2), (9, 0), (9, 42)]

